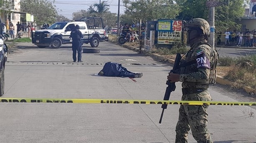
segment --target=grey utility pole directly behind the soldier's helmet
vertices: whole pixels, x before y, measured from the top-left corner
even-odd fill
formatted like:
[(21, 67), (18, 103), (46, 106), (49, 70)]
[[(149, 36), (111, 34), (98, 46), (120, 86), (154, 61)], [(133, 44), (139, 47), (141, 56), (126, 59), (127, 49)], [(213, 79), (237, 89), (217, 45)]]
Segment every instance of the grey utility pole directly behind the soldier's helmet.
[(215, 37), (214, 37), (214, 13), (215, 7), (209, 7), (209, 25), (210, 25), (210, 38), (208, 40), (209, 44), (211, 45), (212, 49), (215, 49)]

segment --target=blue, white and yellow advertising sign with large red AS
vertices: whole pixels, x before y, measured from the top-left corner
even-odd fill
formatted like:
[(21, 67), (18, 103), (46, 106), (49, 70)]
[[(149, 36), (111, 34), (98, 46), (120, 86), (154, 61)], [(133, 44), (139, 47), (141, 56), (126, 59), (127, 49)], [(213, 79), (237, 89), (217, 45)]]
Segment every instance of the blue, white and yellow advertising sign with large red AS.
[(182, 40), (182, 20), (158, 20), (158, 44), (176, 44)]

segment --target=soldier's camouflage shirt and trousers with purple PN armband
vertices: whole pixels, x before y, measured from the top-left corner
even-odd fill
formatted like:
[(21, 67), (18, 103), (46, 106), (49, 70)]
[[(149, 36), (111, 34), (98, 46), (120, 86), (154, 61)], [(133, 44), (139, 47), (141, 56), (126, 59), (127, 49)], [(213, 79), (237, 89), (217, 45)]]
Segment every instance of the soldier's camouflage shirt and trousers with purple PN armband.
[[(206, 83), (210, 75), (210, 62), (208, 60), (210, 54), (211, 46), (203, 42), (202, 39), (198, 39), (197, 42), (191, 44), (191, 49), (186, 53), (185, 62), (196, 62), (186, 65), (181, 72), (180, 81), (183, 82), (184, 90), (182, 100), (211, 101), (211, 96), (207, 90), (208, 84)], [(198, 143), (213, 143), (207, 129), (207, 109), (208, 105), (181, 105), (176, 125), (175, 143), (188, 143), (188, 131), (190, 129)]]

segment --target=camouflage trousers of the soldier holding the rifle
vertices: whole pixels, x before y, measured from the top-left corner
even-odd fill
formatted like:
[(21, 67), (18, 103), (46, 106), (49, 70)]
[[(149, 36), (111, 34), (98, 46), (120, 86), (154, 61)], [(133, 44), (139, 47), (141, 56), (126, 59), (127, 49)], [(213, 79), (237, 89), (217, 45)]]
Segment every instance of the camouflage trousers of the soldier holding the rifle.
[[(201, 93), (183, 95), (182, 100), (211, 101), (211, 95), (206, 90)], [(213, 143), (207, 129), (207, 109), (208, 105), (181, 105), (175, 130), (175, 143), (188, 143), (190, 129), (197, 143)]]

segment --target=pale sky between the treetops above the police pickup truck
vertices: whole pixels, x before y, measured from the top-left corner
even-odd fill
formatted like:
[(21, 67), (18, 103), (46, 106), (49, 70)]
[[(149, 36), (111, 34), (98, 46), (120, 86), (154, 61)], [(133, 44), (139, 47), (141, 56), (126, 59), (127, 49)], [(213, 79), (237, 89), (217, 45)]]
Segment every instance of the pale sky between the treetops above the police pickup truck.
[[(48, 0), (53, 2), (53, 0)], [(101, 0), (102, 2), (103, 0)], [(112, 13), (118, 13), (118, 0), (104, 0), (108, 2), (110, 5), (109, 10)], [(60, 15), (64, 15), (65, 17), (72, 19), (73, 12), (77, 12), (79, 10), (87, 10), (90, 5), (95, 3), (99, 3), (100, 0), (55, 0), (56, 8), (58, 9), (58, 13)], [(122, 7), (122, 0), (120, 0), (120, 14), (124, 13), (124, 7)]]

